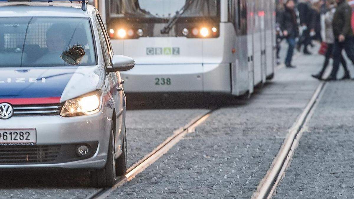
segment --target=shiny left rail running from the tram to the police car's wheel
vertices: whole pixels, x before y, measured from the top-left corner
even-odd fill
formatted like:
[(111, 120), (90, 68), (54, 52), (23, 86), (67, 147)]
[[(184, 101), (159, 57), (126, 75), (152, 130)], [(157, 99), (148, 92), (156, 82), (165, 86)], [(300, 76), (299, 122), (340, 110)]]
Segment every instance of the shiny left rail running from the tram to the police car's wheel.
[(206, 113), (201, 114), (194, 119), (192, 119), (187, 125), (181, 127), (175, 131), (173, 131), (173, 135), (168, 137), (164, 142), (159, 144), (152, 152), (145, 155), (143, 159), (139, 160), (133, 166), (131, 166), (127, 170), (127, 174), (119, 178), (114, 184), (113, 187), (110, 188), (102, 188), (99, 189), (97, 192), (89, 195), (86, 199), (102, 199), (108, 197), (115, 189), (122, 186), (124, 183), (129, 182), (136, 175), (144, 171), (148, 166), (153, 164), (156, 160), (158, 160), (162, 155), (167, 153), (175, 144), (177, 144), (187, 133), (194, 132), (195, 127), (205, 121), (212, 112), (219, 108), (214, 108), (208, 110)]

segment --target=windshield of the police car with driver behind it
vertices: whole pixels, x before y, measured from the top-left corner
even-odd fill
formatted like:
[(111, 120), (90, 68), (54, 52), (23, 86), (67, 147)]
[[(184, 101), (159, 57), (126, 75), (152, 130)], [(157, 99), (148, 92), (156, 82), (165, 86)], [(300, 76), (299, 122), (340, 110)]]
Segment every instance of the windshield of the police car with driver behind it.
[(0, 18), (0, 67), (96, 65), (88, 18)]

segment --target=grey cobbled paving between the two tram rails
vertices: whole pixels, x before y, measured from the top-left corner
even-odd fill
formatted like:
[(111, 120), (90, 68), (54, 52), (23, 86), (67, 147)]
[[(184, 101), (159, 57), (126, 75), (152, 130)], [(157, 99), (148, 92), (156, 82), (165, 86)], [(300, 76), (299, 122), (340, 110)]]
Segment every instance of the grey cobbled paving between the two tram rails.
[(320, 56), (299, 57), (249, 100), (214, 112), (109, 198), (250, 198), (319, 81)]

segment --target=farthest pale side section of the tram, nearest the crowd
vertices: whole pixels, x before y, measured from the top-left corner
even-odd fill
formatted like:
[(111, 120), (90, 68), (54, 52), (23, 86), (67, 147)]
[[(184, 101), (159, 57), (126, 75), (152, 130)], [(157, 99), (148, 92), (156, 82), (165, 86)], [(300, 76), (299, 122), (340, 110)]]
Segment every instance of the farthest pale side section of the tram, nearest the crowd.
[(265, 61), (267, 77), (274, 73), (273, 65), (273, 2), (265, 1)]

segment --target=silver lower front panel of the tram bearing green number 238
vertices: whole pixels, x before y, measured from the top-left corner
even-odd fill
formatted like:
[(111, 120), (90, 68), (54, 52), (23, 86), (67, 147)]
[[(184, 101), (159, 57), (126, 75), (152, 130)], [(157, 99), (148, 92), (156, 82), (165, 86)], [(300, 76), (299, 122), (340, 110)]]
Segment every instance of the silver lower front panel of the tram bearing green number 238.
[(122, 72), (126, 93), (230, 93), (230, 66), (224, 64), (137, 64)]

